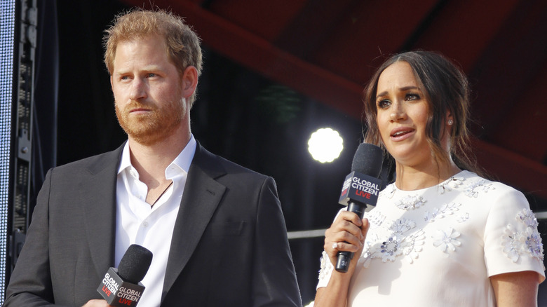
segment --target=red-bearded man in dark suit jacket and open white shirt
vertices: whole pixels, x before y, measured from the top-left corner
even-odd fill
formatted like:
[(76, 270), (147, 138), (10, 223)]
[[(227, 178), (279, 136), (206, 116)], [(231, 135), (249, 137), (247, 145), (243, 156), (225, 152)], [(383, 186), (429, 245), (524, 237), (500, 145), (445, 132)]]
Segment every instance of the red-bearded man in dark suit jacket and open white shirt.
[(191, 135), (196, 34), (133, 11), (105, 46), (128, 142), (48, 172), (5, 306), (107, 306), (96, 289), (133, 243), (154, 254), (139, 306), (301, 306), (274, 180)]

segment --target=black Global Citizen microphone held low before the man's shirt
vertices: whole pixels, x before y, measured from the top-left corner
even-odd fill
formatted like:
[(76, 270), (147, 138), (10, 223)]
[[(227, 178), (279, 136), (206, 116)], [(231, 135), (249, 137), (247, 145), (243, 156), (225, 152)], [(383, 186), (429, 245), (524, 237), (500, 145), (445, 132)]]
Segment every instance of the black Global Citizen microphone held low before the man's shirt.
[(118, 268), (109, 268), (97, 288), (109, 306), (137, 306), (144, 286), (140, 282), (147, 275), (152, 252), (132, 244), (121, 257)]

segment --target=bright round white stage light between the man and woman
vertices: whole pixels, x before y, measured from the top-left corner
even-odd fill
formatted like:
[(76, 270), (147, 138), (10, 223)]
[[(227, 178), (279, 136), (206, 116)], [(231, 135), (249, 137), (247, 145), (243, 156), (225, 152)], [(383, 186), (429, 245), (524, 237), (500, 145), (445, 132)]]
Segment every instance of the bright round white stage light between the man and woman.
[(320, 163), (332, 162), (344, 149), (344, 140), (331, 128), (322, 128), (309, 137), (308, 151)]

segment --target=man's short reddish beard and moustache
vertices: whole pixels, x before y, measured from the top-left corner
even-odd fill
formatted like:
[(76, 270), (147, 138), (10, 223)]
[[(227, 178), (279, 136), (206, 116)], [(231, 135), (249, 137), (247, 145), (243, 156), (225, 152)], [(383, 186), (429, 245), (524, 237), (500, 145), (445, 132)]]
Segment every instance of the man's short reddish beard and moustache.
[[(116, 116), (121, 128), (136, 142), (146, 146), (163, 141), (173, 133), (173, 130), (182, 121), (184, 114), (184, 102), (169, 102), (158, 108), (155, 104), (142, 104), (132, 101), (130, 104), (119, 108), (114, 104)], [(130, 114), (132, 109), (147, 109), (146, 114)]]

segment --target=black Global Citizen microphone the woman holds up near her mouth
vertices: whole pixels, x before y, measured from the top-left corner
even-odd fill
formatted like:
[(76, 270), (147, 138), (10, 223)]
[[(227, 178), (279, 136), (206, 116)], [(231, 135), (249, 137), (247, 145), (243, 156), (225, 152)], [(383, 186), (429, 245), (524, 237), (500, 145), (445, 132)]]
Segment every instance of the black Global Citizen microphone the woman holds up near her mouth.
[[(383, 151), (380, 147), (363, 143), (357, 148), (351, 172), (346, 176), (340, 195), (340, 205), (348, 206), (349, 212), (355, 212), (359, 219), (363, 219), (365, 211), (370, 210), (378, 201), (381, 179), (378, 179), (381, 172)], [(336, 271), (346, 273), (349, 268), (349, 261), (353, 259), (353, 252), (338, 252)]]

